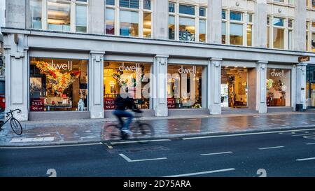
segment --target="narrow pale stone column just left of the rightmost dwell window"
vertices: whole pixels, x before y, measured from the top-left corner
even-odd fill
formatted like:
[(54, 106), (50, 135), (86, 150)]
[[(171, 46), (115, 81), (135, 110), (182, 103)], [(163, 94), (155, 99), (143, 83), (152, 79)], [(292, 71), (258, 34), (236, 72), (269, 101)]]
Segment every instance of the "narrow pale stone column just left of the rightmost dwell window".
[(258, 113), (267, 113), (267, 63), (258, 61), (256, 66), (256, 110)]

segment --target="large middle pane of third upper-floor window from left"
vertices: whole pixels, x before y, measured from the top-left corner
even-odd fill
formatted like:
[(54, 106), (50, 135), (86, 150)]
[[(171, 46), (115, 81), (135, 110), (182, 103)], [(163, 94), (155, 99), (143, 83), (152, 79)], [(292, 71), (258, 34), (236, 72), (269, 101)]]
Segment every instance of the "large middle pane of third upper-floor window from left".
[(195, 19), (179, 17), (179, 40), (195, 41)]

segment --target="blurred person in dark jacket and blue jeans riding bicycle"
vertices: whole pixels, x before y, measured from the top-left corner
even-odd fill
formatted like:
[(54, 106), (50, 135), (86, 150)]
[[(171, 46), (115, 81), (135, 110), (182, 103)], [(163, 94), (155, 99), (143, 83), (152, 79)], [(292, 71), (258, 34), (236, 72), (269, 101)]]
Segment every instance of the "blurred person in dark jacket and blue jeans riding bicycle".
[[(139, 108), (137, 108), (136, 104), (134, 104), (134, 99), (128, 94), (128, 88), (125, 90), (126, 93), (120, 93), (116, 97), (114, 104), (115, 110), (113, 111), (113, 115), (116, 115), (120, 122), (120, 128), (125, 134), (132, 134), (129, 129), (130, 124), (132, 123), (132, 115), (131, 112), (126, 111), (126, 109), (132, 109), (135, 113), (142, 113)], [(123, 118), (128, 118), (127, 122), (124, 123)]]

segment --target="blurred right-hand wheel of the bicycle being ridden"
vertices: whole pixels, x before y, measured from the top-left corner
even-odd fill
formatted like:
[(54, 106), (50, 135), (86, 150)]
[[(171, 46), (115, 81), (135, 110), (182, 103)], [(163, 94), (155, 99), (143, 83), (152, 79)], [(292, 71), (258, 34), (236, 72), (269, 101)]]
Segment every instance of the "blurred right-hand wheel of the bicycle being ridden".
[(148, 143), (149, 139), (152, 139), (154, 136), (153, 127), (147, 123), (140, 123), (133, 130), (134, 139), (139, 141), (139, 143)]

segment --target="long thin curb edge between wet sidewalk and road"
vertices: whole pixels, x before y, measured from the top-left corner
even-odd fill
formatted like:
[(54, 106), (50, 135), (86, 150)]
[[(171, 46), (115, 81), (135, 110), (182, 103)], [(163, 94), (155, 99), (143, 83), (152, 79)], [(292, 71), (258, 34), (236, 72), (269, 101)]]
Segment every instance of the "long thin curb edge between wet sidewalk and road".
[[(236, 132), (201, 132), (201, 133), (189, 133), (189, 134), (168, 134), (161, 136), (154, 136), (153, 139), (183, 139), (197, 136), (218, 136), (218, 135), (228, 135), (228, 134), (244, 134), (244, 133), (255, 133), (255, 132), (273, 132), (279, 130), (295, 130), (295, 129), (303, 129), (307, 127), (314, 127), (315, 125), (303, 125), (300, 127), (292, 126), (292, 127), (276, 127), (273, 129), (251, 129), (246, 131), (236, 131)], [(153, 140), (151, 139), (151, 140)], [(133, 141), (133, 139), (130, 139)], [(45, 147), (45, 146), (71, 146), (71, 145), (85, 145), (85, 144), (101, 144), (108, 143), (110, 141), (105, 141), (102, 139), (92, 140), (92, 141), (63, 141), (63, 142), (52, 142), (52, 143), (23, 143), (23, 144), (5, 144), (0, 146), (1, 148), (26, 148), (26, 147)]]

